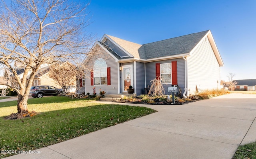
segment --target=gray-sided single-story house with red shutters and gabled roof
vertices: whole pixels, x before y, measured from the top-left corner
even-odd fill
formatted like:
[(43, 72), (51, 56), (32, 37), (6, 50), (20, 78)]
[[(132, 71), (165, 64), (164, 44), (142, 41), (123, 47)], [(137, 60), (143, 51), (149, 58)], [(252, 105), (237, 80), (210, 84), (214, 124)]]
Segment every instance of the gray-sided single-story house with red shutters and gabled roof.
[[(96, 41), (92, 50), (102, 48), (101, 57), (85, 59), (85, 92), (125, 94), (132, 85), (134, 93), (144, 94), (151, 80), (161, 76), (165, 88), (180, 86), (182, 94), (193, 94), (196, 88), (220, 88), (222, 58), (210, 30), (174, 37), (148, 44), (137, 44), (110, 35)], [(185, 91), (186, 88), (186, 91)]]

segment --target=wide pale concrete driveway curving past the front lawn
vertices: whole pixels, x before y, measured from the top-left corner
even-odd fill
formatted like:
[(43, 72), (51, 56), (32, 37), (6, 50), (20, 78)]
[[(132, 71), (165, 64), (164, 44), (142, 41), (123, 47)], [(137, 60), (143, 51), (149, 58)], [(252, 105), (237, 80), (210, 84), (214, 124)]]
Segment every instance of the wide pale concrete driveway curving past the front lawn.
[(256, 94), (143, 106), (158, 112), (8, 159), (231, 159), (256, 141)]

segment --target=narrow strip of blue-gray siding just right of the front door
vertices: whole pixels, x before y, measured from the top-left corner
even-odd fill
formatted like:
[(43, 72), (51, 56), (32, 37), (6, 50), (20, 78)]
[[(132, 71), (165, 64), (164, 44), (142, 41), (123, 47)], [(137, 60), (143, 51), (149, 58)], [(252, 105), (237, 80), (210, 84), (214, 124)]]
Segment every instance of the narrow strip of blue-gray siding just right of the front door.
[(144, 63), (136, 62), (136, 94), (145, 94), (145, 69)]

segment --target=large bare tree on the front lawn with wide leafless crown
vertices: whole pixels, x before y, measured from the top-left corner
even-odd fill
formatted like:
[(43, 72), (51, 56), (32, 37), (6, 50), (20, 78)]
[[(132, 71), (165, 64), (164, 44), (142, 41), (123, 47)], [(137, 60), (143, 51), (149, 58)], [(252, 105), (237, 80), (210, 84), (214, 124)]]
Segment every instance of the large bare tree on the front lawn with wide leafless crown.
[[(0, 3), (0, 67), (14, 76), (19, 114), (28, 112), (33, 79), (46, 63), (78, 64), (91, 46), (86, 7), (68, 0), (12, 0)], [(22, 77), (14, 63), (24, 65)]]

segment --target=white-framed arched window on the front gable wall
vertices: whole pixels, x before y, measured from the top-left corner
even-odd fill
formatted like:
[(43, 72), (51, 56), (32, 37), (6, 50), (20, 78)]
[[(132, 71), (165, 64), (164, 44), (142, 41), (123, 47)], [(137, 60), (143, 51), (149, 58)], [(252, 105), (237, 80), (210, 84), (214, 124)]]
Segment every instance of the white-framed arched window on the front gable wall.
[(107, 85), (107, 64), (102, 58), (95, 61), (93, 66), (94, 85)]

